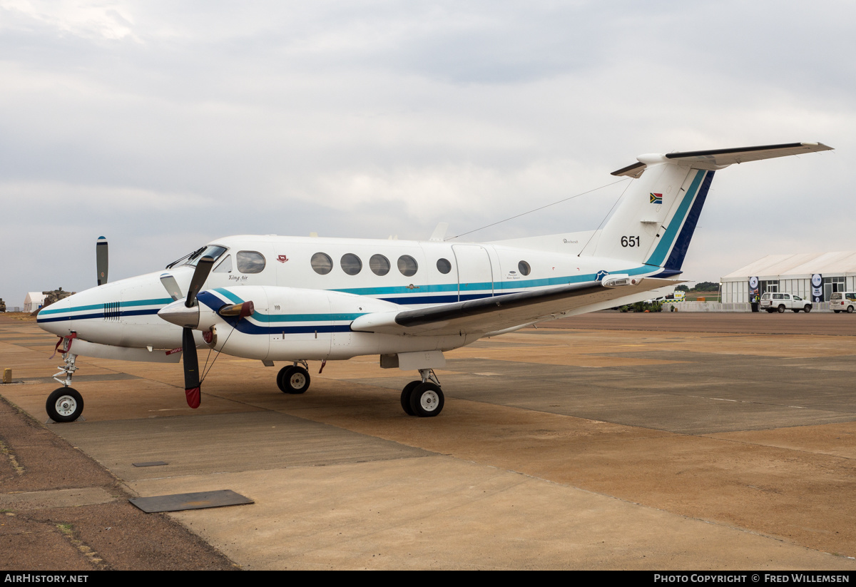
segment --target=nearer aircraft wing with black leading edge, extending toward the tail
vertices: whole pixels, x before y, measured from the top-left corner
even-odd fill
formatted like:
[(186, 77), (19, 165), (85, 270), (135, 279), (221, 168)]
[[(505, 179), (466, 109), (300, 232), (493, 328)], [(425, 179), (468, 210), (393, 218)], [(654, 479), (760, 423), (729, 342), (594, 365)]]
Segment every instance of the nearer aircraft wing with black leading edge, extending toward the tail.
[(351, 323), (357, 332), (443, 336), (484, 334), (531, 324), (627, 295), (674, 286), (670, 279), (609, 276), (603, 282), (574, 283), (520, 294), (433, 305), (420, 310), (373, 312)]

